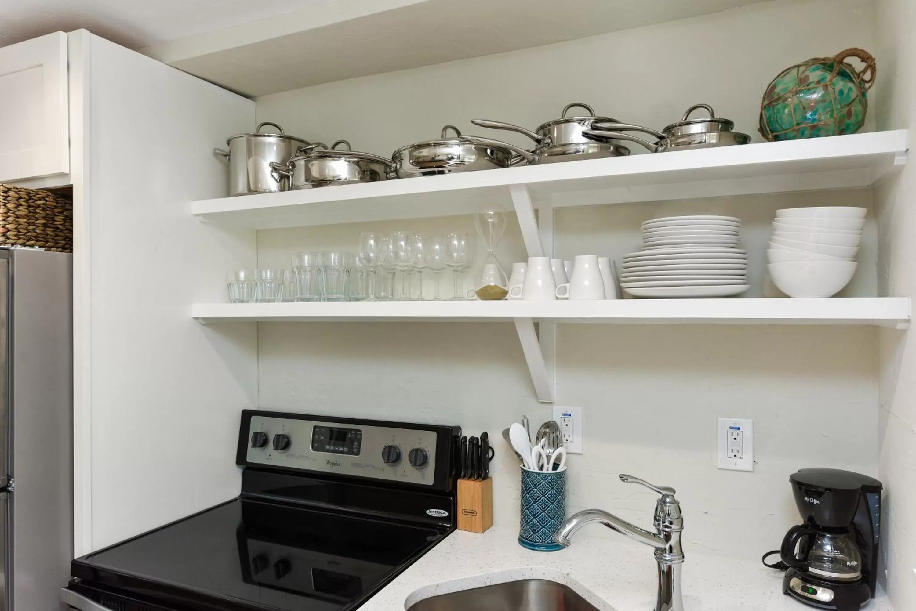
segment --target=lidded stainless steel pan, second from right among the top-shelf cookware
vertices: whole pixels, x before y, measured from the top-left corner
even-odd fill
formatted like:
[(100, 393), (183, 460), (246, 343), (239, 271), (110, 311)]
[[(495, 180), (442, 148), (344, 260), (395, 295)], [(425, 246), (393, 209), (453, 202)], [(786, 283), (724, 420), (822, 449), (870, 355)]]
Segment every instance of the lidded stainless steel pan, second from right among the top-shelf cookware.
[[(588, 115), (566, 116), (571, 108), (583, 108)], [(605, 157), (621, 157), (629, 155), (629, 148), (619, 141), (612, 139), (599, 140), (584, 136), (586, 130), (592, 129), (596, 122), (616, 123), (616, 119), (607, 116), (596, 116), (588, 104), (573, 103), (563, 108), (561, 118), (553, 119), (538, 125), (535, 131), (489, 119), (474, 119), (474, 125), (489, 127), (491, 129), (506, 129), (518, 132), (534, 140), (537, 147), (534, 149), (536, 160), (534, 163), (554, 163), (557, 161), (572, 161), (574, 159), (591, 159)]]

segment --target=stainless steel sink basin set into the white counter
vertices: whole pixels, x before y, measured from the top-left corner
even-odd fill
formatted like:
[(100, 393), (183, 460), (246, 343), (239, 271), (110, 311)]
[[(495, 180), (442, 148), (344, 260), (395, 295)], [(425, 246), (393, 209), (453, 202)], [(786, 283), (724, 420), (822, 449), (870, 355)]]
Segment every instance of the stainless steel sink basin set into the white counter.
[(563, 584), (522, 579), (424, 598), (407, 611), (598, 611)]

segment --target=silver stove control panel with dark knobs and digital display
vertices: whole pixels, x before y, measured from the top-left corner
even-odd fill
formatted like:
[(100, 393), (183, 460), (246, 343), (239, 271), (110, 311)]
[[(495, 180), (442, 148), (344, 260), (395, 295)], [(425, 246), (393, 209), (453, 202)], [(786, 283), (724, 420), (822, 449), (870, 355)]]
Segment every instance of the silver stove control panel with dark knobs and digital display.
[(245, 462), (432, 486), (436, 431), (256, 414)]

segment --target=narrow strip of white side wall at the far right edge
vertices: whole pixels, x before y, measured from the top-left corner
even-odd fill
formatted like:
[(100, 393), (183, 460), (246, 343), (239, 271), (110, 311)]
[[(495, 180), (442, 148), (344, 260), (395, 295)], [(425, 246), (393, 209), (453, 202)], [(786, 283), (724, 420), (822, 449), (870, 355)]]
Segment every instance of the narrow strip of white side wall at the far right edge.
[[(878, 120), (882, 129), (916, 133), (916, 5), (878, 0)], [(912, 162), (875, 192), (881, 249), (882, 294), (916, 292), (916, 170)], [(884, 528), (887, 589), (896, 608), (916, 600), (916, 339), (912, 333), (880, 333), (879, 477), (885, 485)]]

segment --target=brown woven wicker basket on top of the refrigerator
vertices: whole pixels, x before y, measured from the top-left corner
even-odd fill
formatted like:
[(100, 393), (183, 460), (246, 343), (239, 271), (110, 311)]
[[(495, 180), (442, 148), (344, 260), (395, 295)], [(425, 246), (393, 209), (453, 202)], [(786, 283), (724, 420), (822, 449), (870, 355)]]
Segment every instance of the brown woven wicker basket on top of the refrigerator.
[(73, 202), (49, 191), (0, 184), (0, 246), (73, 252)]

